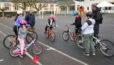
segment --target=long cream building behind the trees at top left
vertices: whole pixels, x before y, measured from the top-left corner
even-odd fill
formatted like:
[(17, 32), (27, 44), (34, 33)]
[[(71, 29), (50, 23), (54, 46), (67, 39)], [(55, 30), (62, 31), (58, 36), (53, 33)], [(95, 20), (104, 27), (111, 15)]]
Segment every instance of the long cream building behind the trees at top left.
[[(36, 3), (36, 5), (39, 6), (39, 3)], [(5, 10), (6, 12), (15, 12), (15, 11), (21, 9), (18, 6), (14, 5), (12, 2), (10, 2), (9, 0), (8, 1), (0, 0), (0, 9), (1, 8), (7, 8), (7, 10)], [(31, 7), (27, 7), (26, 11), (29, 11), (30, 9), (31, 9)], [(32, 9), (34, 9), (34, 8), (32, 8)], [(55, 2), (50, 2), (47, 4), (46, 7), (43, 7), (40, 11), (52, 11), (52, 12), (55, 11), (56, 13), (58, 13), (58, 10), (59, 10), (58, 4), (56, 4)]]

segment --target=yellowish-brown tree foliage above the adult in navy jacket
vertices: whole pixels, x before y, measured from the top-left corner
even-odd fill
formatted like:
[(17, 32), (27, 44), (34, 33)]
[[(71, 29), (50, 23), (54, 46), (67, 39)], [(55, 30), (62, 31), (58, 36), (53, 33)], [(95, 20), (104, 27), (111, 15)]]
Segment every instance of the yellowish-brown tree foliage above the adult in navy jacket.
[[(49, 1), (53, 0), (11, 0), (19, 8), (26, 11), (27, 7), (32, 7), (39, 11), (41, 8), (47, 6)], [(43, 3), (43, 4), (42, 4)]]

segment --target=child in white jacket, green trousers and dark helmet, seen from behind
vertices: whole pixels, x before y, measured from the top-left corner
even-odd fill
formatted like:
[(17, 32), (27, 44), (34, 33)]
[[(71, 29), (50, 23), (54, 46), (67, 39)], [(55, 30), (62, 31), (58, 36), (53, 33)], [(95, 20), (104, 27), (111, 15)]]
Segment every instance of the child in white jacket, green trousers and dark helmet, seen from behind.
[(82, 26), (82, 33), (84, 35), (84, 42), (85, 42), (85, 55), (89, 56), (90, 53), (95, 55), (95, 48), (93, 43), (93, 34), (94, 34), (94, 24), (95, 20), (92, 18), (92, 12), (88, 12), (86, 14), (87, 20)]

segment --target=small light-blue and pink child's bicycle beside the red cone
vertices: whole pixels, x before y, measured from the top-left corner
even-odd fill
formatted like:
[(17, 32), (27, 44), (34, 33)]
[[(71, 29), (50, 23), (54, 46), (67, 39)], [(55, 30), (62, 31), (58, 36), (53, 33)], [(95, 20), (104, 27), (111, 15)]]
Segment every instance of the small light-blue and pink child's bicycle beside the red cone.
[[(25, 45), (24, 54), (27, 52), (27, 49), (30, 48), (31, 46), (33, 46), (32, 47), (32, 53), (33, 54), (40, 55), (42, 53), (43, 48), (34, 39), (34, 40), (32, 40), (32, 42)], [(10, 49), (10, 55), (12, 57), (18, 57), (19, 55), (21, 55), (20, 52), (21, 51), (20, 51), (20, 45), (19, 44), (16, 47), (13, 47), (13, 48)]]

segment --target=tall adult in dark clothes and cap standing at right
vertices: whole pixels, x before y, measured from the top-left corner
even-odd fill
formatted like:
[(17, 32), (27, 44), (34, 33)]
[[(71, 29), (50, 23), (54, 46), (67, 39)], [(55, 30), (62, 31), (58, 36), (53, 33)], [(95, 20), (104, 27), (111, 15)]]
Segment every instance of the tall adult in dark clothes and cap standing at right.
[(99, 24), (102, 23), (103, 17), (100, 13), (101, 9), (96, 6), (96, 4), (92, 4), (91, 6), (93, 12), (93, 19), (95, 19), (96, 23), (94, 25), (94, 36), (99, 37)]

